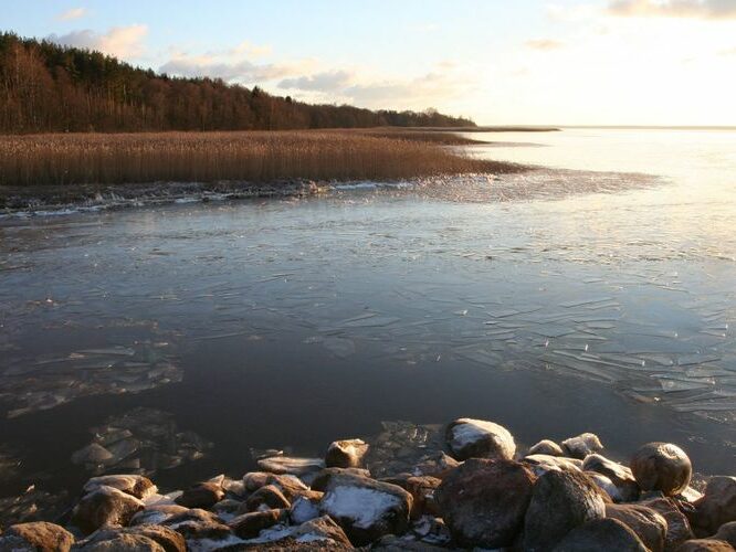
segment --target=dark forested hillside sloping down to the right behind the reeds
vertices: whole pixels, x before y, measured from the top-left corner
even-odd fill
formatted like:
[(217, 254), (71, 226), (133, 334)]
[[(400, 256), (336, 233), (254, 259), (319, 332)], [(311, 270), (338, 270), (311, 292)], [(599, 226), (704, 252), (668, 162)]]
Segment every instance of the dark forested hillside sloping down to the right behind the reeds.
[(464, 118), (311, 105), (221, 79), (178, 78), (99, 52), (0, 34), (0, 132), (474, 126)]

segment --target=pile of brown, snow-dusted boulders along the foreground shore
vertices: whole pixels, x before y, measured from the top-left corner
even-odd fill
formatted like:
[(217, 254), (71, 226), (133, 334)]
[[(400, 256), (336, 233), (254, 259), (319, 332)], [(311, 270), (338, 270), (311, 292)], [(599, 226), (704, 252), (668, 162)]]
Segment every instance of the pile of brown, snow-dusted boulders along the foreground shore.
[(369, 448), (345, 439), (324, 458), (273, 452), (241, 479), (166, 493), (143, 475), (93, 477), (61, 518), (3, 528), (0, 551), (736, 546), (736, 477), (694, 482), (674, 444), (644, 444), (627, 466), (592, 433), (519, 450), (507, 428), (460, 418), (443, 450), (404, 471), (371, 474)]

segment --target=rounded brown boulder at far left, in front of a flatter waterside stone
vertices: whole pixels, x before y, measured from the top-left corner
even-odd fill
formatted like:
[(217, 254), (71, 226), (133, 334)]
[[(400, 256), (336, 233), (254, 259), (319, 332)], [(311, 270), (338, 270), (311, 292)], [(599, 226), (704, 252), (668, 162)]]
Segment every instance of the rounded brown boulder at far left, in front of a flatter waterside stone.
[(85, 533), (102, 526), (127, 526), (133, 516), (144, 508), (140, 499), (113, 487), (101, 486), (82, 497), (74, 507), (72, 523)]

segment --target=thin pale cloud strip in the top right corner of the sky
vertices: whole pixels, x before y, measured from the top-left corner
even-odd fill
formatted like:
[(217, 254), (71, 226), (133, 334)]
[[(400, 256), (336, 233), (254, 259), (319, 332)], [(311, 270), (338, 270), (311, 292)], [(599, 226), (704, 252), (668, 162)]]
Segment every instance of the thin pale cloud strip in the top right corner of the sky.
[(610, 0), (608, 12), (621, 17), (736, 19), (736, 0)]

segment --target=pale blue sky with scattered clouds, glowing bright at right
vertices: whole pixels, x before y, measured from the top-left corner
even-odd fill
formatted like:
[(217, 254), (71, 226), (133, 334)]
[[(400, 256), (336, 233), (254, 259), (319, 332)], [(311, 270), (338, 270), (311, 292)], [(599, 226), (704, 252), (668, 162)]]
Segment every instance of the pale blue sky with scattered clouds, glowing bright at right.
[[(4, 4), (4, 6), (3, 6)], [(485, 125), (736, 125), (736, 0), (0, 0), (0, 30)]]

